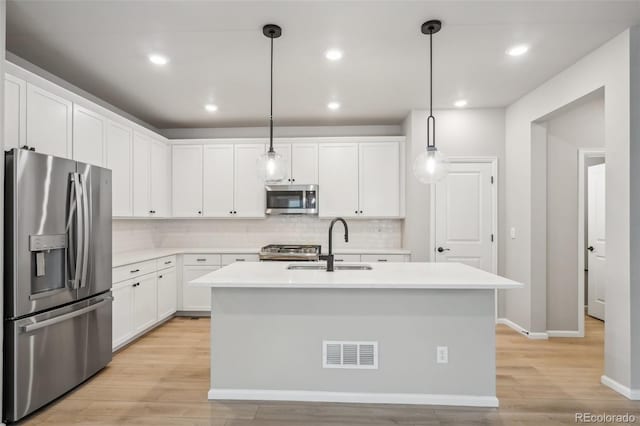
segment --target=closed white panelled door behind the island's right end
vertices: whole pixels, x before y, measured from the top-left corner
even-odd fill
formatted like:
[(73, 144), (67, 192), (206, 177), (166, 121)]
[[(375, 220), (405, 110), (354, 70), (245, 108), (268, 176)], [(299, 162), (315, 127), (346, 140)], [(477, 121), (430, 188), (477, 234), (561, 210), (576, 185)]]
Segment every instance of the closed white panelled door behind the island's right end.
[(452, 163), (436, 185), (435, 259), (494, 270), (491, 163)]

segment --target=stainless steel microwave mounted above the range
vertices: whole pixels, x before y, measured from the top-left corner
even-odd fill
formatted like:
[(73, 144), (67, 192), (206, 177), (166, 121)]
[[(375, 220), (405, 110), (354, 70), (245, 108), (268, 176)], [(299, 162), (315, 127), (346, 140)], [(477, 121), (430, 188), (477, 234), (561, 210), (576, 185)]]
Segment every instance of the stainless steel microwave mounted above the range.
[(266, 185), (266, 214), (318, 214), (318, 185)]

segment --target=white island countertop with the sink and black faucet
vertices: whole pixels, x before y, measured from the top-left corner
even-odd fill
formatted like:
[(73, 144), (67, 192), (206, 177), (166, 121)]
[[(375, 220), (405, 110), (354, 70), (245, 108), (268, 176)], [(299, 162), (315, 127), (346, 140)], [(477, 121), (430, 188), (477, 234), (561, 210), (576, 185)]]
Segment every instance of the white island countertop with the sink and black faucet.
[(462, 263), (358, 263), (358, 265), (367, 264), (373, 269), (326, 272), (324, 270), (288, 270), (287, 266), (290, 265), (288, 262), (234, 263), (193, 280), (189, 285), (212, 288), (460, 290), (523, 287), (515, 281)]

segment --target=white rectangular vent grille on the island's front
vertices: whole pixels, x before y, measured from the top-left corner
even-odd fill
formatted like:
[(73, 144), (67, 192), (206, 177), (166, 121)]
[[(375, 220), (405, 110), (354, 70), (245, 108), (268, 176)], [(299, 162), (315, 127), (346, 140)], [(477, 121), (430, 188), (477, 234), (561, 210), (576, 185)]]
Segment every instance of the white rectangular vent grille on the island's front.
[(322, 368), (378, 368), (378, 342), (322, 342)]

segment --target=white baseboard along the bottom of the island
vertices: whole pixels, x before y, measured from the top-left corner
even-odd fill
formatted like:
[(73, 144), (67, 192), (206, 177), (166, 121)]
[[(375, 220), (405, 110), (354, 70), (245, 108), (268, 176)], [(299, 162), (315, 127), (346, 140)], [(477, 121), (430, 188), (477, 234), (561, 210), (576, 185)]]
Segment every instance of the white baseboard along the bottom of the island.
[(349, 402), (373, 404), (454, 405), (498, 407), (495, 396), (436, 395), (421, 393), (324, 392), (263, 389), (210, 389), (210, 400)]

